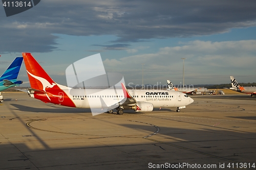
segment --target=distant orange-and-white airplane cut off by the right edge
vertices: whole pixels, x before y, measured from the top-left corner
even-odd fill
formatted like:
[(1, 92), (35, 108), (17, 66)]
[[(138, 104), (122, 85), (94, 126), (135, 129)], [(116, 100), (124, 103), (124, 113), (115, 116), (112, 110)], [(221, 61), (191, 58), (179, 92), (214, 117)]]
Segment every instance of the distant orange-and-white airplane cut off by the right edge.
[(230, 90), (238, 91), (238, 92), (241, 92), (241, 93), (251, 94), (251, 97), (256, 95), (256, 87), (255, 86), (254, 87), (252, 87), (252, 86), (245, 86), (245, 87), (240, 86), (233, 76), (230, 76), (230, 80), (231, 80), (232, 87), (225, 88), (225, 89), (230, 89)]

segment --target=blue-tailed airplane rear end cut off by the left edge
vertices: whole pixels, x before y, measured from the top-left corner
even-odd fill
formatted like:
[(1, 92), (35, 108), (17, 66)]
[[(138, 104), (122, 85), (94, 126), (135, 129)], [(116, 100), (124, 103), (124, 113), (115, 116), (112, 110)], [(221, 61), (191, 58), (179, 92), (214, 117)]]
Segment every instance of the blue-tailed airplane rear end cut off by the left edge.
[(19, 86), (23, 83), (23, 81), (16, 80), (22, 61), (23, 57), (16, 57), (0, 77), (0, 91), (6, 90), (10, 87)]

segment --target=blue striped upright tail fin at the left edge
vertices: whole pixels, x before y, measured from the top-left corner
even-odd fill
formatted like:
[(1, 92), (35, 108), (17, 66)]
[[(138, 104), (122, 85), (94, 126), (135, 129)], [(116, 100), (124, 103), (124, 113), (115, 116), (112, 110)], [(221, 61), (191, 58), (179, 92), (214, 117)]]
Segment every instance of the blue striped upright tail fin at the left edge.
[(23, 57), (16, 57), (11, 65), (6, 69), (4, 74), (0, 77), (0, 82), (3, 80), (15, 80), (18, 77), (18, 72), (22, 66)]

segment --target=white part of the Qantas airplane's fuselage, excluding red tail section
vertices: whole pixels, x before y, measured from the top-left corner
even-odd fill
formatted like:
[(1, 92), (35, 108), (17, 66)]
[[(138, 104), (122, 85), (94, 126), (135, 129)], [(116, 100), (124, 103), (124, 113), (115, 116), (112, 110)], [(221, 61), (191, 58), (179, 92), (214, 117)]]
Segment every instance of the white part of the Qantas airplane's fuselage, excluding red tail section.
[[(100, 108), (102, 105), (112, 106), (123, 101), (122, 89), (72, 89), (64, 90), (76, 107)], [(179, 91), (166, 90), (128, 90), (137, 102), (152, 103), (154, 108), (181, 107), (194, 102), (193, 99)], [(103, 104), (102, 104), (103, 101)]]

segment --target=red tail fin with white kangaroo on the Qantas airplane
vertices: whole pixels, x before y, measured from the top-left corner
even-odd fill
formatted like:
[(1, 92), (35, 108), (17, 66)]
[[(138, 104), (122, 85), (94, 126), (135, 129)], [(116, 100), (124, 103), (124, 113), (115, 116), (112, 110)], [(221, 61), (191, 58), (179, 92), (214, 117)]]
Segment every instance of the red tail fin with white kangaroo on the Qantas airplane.
[(31, 53), (22, 53), (25, 66), (27, 69), (29, 82), (31, 88), (44, 90), (46, 88), (55, 89), (56, 85), (46, 71), (40, 66), (40, 64), (34, 59)]

